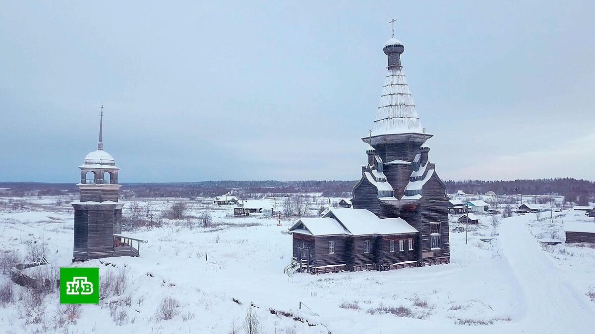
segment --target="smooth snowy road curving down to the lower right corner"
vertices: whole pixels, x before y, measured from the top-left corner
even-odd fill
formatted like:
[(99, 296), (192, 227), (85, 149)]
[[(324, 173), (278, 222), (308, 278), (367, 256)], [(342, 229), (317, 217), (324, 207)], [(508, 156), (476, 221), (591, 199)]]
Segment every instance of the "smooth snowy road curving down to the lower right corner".
[(525, 228), (527, 219), (502, 220), (499, 227), (502, 255), (508, 260), (518, 286), (513, 305), (513, 327), (525, 333), (595, 333), (595, 306), (566, 282), (538, 242)]

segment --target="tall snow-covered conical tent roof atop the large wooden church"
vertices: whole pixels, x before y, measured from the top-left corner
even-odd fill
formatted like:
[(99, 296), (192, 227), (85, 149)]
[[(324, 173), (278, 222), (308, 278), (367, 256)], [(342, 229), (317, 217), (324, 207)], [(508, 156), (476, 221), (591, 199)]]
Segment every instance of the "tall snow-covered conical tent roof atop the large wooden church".
[[(393, 42), (398, 41), (394, 39)], [(390, 66), (387, 71), (372, 134), (422, 133), (402, 67)]]

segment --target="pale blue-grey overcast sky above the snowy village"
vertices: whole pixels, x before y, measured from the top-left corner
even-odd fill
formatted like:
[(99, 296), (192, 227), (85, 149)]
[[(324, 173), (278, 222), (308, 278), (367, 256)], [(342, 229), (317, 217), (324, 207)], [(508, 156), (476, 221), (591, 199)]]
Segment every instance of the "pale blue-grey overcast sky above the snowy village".
[(2, 1), (0, 181), (358, 179), (403, 70), (443, 179), (595, 179), (593, 1)]

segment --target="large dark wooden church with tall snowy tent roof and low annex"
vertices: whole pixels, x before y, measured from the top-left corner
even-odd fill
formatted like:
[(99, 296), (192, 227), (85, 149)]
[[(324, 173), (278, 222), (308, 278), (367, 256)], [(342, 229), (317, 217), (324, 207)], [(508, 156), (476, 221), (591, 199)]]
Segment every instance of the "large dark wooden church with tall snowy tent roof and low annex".
[(362, 138), (368, 162), (353, 187), (352, 209), (299, 219), (292, 263), (305, 272), (390, 270), (450, 261), (446, 185), (430, 162), (427, 140), (405, 80), (403, 43), (391, 37), (374, 127)]

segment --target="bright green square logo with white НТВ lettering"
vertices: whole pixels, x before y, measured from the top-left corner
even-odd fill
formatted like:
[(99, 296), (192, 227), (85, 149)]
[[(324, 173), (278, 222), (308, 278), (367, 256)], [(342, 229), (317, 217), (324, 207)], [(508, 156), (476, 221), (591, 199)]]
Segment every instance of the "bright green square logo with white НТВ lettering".
[(99, 268), (60, 268), (61, 304), (98, 304)]

